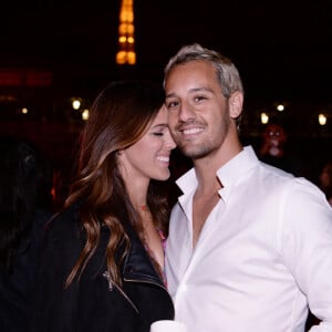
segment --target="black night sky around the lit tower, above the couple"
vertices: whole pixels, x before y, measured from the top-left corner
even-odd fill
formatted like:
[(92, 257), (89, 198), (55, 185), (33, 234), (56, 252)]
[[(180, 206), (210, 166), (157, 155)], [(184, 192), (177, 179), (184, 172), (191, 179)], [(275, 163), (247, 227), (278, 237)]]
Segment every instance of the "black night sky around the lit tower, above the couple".
[[(120, 1), (6, 2), (0, 7), (0, 68), (112, 73)], [(234, 60), (249, 97), (331, 102), (329, 1), (134, 2), (141, 72), (162, 74), (179, 46), (199, 42)]]

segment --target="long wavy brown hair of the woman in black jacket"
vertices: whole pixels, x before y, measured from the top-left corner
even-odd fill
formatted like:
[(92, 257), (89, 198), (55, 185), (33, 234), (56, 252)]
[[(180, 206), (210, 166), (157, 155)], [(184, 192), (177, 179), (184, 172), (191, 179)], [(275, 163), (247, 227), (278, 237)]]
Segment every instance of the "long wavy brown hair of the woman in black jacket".
[[(164, 103), (162, 86), (145, 81), (111, 83), (92, 105), (83, 131), (76, 180), (71, 186), (65, 206), (83, 201), (80, 217), (86, 234), (85, 246), (66, 280), (66, 287), (80, 279), (93, 256), (101, 227), (110, 229), (106, 248), (107, 270), (112, 282), (121, 286), (118, 263), (129, 247), (124, 217), (143, 238), (143, 226), (135, 211), (117, 166), (117, 152), (136, 143), (146, 132)], [(151, 181), (147, 204), (156, 227), (165, 230), (168, 220), (167, 199)], [(125, 250), (116, 261), (116, 250)]]

